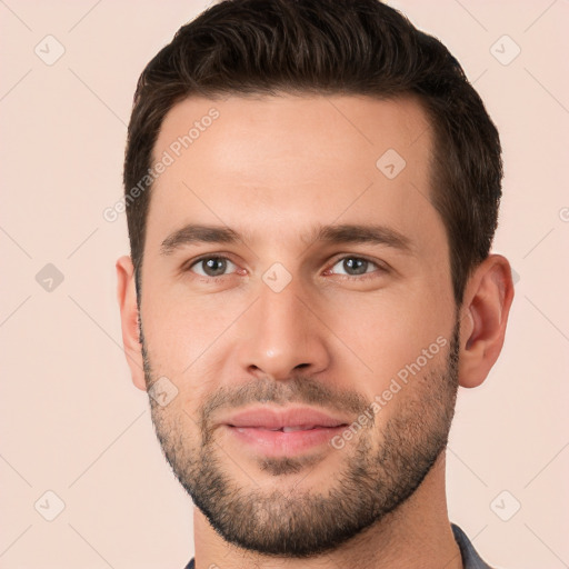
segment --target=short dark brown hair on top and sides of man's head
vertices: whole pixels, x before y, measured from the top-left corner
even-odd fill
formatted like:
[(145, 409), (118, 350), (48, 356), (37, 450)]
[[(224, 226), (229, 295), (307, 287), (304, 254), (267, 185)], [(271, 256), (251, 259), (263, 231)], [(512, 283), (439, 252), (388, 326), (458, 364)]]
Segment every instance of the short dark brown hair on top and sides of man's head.
[[(431, 201), (450, 249), (455, 300), (498, 224), (498, 131), (459, 62), (432, 36), (378, 0), (224, 0), (178, 30), (139, 78), (128, 129), (124, 192), (144, 179), (166, 113), (191, 96), (418, 96), (435, 149)], [(127, 203), (140, 302), (150, 186)]]

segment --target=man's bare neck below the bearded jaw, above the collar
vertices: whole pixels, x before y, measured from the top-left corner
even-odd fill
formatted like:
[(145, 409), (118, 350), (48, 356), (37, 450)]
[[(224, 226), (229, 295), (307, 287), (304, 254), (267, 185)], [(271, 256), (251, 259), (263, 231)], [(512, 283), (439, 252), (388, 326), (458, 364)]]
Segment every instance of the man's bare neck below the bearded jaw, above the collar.
[(462, 569), (447, 511), (445, 452), (405, 503), (338, 549), (310, 559), (269, 557), (228, 543), (197, 508), (193, 528), (196, 569)]

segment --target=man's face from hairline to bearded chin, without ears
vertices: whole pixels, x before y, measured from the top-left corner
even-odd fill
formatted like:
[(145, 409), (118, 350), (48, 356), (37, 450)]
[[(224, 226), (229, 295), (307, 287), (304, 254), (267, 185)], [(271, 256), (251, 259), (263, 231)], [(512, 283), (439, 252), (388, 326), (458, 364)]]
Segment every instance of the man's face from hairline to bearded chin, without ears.
[[(150, 399), (152, 420), (226, 540), (332, 549), (411, 496), (445, 448), (458, 328), (431, 149), (411, 99), (188, 99), (166, 117), (154, 160), (172, 160), (151, 190), (141, 274), (146, 382), (178, 390)], [(190, 224), (237, 238), (179, 231)], [(236, 417), (301, 407), (339, 427)]]

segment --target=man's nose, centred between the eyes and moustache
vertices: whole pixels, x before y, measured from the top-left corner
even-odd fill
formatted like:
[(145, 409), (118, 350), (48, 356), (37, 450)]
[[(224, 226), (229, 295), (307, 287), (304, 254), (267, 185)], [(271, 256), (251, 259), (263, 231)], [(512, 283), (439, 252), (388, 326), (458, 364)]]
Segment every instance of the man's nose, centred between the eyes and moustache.
[(274, 380), (327, 369), (329, 333), (310, 305), (295, 279), (280, 292), (260, 283), (257, 302), (239, 319), (241, 369)]

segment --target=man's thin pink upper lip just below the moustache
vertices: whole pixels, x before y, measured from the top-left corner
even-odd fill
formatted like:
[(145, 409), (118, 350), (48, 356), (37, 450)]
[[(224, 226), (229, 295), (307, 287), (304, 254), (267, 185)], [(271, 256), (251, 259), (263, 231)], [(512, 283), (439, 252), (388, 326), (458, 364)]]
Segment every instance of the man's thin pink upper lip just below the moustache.
[(341, 418), (332, 417), (310, 407), (293, 407), (282, 410), (267, 407), (247, 409), (229, 416), (222, 421), (230, 427), (259, 427), (282, 429), (283, 427), (339, 427), (347, 425)]

